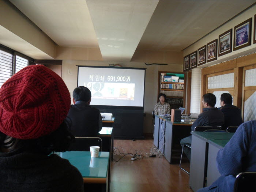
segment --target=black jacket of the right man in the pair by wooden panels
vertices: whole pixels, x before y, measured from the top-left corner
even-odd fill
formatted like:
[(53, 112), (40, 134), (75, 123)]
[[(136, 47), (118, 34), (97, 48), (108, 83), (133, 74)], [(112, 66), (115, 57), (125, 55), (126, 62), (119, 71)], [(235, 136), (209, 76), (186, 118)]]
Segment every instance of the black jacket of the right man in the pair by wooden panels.
[(241, 110), (234, 105), (224, 105), (219, 110), (224, 114), (225, 123), (223, 129), (227, 127), (238, 127), (243, 123)]

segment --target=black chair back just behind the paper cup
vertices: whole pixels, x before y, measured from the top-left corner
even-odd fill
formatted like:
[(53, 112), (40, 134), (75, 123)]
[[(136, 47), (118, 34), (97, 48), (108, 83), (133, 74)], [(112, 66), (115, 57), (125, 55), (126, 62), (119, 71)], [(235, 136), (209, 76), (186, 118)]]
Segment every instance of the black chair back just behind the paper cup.
[(75, 139), (69, 151), (90, 151), (90, 146), (99, 146), (99, 151), (102, 151), (102, 139), (99, 137), (75, 137)]

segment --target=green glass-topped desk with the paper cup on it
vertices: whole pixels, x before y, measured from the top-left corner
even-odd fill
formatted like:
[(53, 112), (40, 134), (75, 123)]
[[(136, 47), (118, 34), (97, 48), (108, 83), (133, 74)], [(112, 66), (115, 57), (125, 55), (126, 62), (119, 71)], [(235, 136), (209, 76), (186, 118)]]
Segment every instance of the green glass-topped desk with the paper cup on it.
[(99, 184), (108, 191), (109, 152), (99, 152), (98, 158), (91, 158), (90, 151), (66, 151), (60, 157), (80, 171), (84, 183)]

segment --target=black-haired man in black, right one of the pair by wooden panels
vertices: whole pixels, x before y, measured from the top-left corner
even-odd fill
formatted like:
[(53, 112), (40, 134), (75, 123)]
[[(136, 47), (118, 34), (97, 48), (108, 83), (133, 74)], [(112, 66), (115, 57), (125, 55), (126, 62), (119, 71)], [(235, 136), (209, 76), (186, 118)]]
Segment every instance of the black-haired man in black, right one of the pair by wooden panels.
[(219, 110), (224, 114), (224, 124), (222, 128), (238, 127), (243, 123), (241, 110), (232, 105), (233, 98), (229, 93), (221, 94), (221, 108)]

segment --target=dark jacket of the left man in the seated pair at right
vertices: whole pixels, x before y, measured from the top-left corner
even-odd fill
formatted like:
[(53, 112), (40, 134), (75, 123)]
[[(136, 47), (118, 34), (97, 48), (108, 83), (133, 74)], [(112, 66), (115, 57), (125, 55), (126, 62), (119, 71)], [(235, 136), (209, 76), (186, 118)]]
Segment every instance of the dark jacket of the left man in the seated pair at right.
[(204, 108), (203, 113), (199, 114), (191, 126), (191, 131), (194, 131), (196, 126), (222, 126), (223, 123), (224, 115), (218, 108)]

